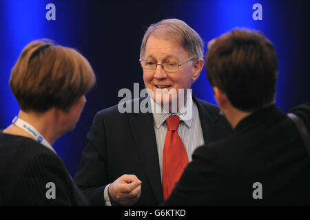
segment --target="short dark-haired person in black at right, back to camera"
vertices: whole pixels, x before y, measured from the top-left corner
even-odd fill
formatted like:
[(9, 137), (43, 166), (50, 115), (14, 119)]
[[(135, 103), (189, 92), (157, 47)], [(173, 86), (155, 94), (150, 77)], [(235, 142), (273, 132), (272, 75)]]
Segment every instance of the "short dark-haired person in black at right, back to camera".
[[(207, 78), (234, 132), (200, 146), (163, 206), (310, 205), (310, 102), (276, 107), (278, 59), (260, 32), (233, 30), (209, 42)], [(305, 138), (303, 138), (306, 136)]]

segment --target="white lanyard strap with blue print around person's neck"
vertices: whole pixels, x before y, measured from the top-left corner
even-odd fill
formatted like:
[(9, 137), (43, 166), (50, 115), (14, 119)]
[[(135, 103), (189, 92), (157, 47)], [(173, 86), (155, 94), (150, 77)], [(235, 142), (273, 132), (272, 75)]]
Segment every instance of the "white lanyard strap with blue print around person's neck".
[(29, 124), (28, 122), (25, 122), (24, 120), (22, 120), (21, 118), (19, 118), (17, 116), (15, 116), (15, 118), (12, 120), (12, 123), (15, 124), (16, 126), (20, 127), (21, 129), (27, 131), (28, 133), (30, 133), (30, 135), (34, 136), (34, 138), (39, 143), (43, 144), (47, 148), (50, 148), (50, 150), (52, 150), (54, 153), (56, 153), (54, 151), (54, 149), (52, 148), (52, 146), (45, 140), (43, 135), (41, 135), (41, 133), (39, 133), (39, 131), (37, 131), (37, 129), (34, 129), (34, 127), (31, 124)]

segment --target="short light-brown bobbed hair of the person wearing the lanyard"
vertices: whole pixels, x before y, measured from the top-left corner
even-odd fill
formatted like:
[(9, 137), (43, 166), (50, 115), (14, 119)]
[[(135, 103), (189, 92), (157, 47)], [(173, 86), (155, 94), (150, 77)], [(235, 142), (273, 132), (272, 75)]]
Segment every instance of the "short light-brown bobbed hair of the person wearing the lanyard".
[(10, 76), (10, 88), (21, 110), (37, 112), (52, 107), (68, 111), (95, 82), (84, 56), (50, 40), (26, 45)]

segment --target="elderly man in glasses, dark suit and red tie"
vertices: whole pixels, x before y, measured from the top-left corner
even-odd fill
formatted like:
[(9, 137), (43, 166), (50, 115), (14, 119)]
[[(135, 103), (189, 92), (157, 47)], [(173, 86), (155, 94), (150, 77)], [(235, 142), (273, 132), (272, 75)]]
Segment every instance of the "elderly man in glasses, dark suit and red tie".
[[(120, 113), (114, 106), (96, 114), (75, 176), (93, 205), (161, 203), (194, 150), (231, 132), (218, 107), (189, 91), (204, 60), (203, 41), (186, 23), (165, 19), (150, 25), (140, 63), (149, 96), (138, 102), (163, 111)], [(184, 103), (174, 109), (176, 100)], [(183, 114), (184, 109), (191, 113)]]

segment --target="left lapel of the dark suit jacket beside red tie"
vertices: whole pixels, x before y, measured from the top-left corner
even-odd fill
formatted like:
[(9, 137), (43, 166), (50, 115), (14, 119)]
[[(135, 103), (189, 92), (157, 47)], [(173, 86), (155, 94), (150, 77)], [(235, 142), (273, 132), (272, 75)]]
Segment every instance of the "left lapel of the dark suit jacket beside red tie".
[(152, 113), (134, 114), (130, 119), (130, 126), (149, 184), (159, 203), (163, 201), (163, 186)]

